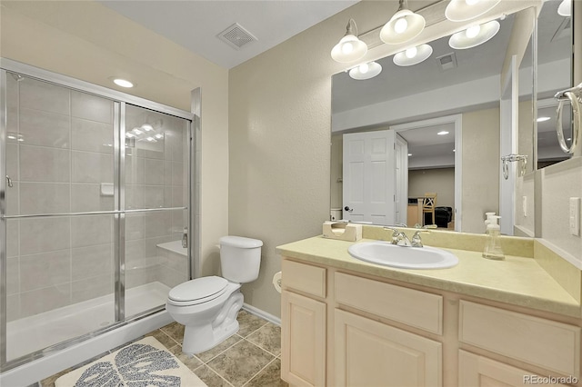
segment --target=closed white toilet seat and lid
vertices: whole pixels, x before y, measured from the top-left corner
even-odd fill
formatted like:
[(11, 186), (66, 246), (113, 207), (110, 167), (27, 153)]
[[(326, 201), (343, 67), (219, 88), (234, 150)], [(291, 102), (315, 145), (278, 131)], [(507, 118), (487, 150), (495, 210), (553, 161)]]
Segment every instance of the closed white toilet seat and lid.
[(176, 306), (207, 303), (226, 292), (228, 281), (216, 275), (180, 283), (168, 293), (167, 302)]

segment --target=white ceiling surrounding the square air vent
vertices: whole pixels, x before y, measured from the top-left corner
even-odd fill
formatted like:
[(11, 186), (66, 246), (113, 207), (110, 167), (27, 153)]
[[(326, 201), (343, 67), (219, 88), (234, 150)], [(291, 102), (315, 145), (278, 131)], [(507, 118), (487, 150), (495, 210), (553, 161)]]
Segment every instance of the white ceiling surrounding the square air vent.
[[(210, 62), (232, 68), (359, 0), (100, 1)], [(238, 23), (257, 40), (240, 49), (216, 35)]]

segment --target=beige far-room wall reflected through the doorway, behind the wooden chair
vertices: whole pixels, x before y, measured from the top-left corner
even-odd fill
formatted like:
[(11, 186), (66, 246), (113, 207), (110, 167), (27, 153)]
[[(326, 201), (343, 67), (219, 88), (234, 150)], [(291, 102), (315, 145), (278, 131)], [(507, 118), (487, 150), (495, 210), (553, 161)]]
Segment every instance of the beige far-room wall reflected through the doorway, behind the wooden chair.
[(437, 206), (455, 208), (455, 168), (408, 171), (408, 197), (437, 193)]

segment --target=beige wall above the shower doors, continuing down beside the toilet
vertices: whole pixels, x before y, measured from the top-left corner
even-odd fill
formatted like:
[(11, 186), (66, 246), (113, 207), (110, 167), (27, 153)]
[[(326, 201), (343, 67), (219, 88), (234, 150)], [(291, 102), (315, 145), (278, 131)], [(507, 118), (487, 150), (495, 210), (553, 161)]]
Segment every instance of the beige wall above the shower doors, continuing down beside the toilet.
[(3, 1), (0, 13), (2, 57), (109, 88), (129, 77), (129, 93), (186, 111), (201, 87), (200, 249), (203, 273), (216, 273), (228, 233), (227, 70), (98, 3)]

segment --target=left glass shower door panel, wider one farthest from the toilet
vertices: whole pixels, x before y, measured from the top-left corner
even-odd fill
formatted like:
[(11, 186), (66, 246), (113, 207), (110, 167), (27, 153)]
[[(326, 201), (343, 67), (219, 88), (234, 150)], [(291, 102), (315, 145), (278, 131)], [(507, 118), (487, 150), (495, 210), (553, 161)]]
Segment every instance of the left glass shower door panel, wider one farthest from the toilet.
[(115, 103), (12, 73), (5, 93), (11, 361), (115, 323)]

